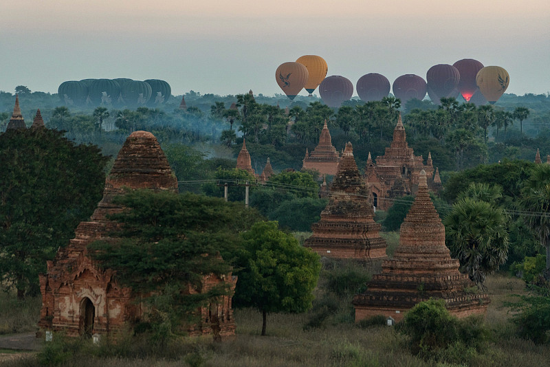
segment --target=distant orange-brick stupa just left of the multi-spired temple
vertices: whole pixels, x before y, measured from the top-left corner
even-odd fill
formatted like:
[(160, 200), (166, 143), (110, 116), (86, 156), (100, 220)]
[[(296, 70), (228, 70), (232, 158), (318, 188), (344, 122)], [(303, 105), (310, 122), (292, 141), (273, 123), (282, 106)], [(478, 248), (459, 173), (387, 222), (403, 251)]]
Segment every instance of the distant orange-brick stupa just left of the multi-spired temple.
[(311, 154), (306, 148), (302, 169), (318, 170), (320, 175), (336, 175), (338, 162), (340, 162), (340, 155), (332, 145), (331, 133), (329, 133), (327, 120), (325, 120), (325, 125), (322, 127), (319, 137), (319, 144)]

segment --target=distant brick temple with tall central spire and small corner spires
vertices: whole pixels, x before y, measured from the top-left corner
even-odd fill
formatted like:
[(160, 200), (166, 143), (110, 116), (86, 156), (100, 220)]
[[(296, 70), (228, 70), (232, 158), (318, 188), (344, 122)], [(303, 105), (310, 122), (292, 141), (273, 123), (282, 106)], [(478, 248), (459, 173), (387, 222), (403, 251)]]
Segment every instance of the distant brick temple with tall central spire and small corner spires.
[(428, 154), (426, 164), (423, 164), (422, 156), (415, 157), (412, 148), (408, 147), (405, 128), (399, 114), (397, 126), (393, 131), (393, 141), (386, 148), (384, 155), (376, 157), (376, 161), (373, 162), (369, 153), (366, 160), (365, 181), (368, 182), (375, 207), (388, 210), (393, 199), (414, 194), (421, 170), (428, 173), (428, 186), (432, 188), (432, 155)]

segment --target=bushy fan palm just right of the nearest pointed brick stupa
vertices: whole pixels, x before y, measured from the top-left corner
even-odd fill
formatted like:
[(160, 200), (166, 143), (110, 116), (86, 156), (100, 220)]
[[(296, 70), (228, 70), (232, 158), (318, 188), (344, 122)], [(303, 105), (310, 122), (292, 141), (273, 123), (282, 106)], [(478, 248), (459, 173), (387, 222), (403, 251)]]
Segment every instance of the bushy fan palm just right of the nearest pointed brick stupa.
[[(476, 189), (468, 188), (471, 192)], [(478, 197), (490, 197), (491, 190), (486, 189)], [(502, 207), (471, 197), (456, 201), (445, 216), (445, 242), (451, 255), (460, 260), (461, 270), (481, 289), (485, 289), (485, 274), (496, 271), (507, 259), (508, 222)]]

